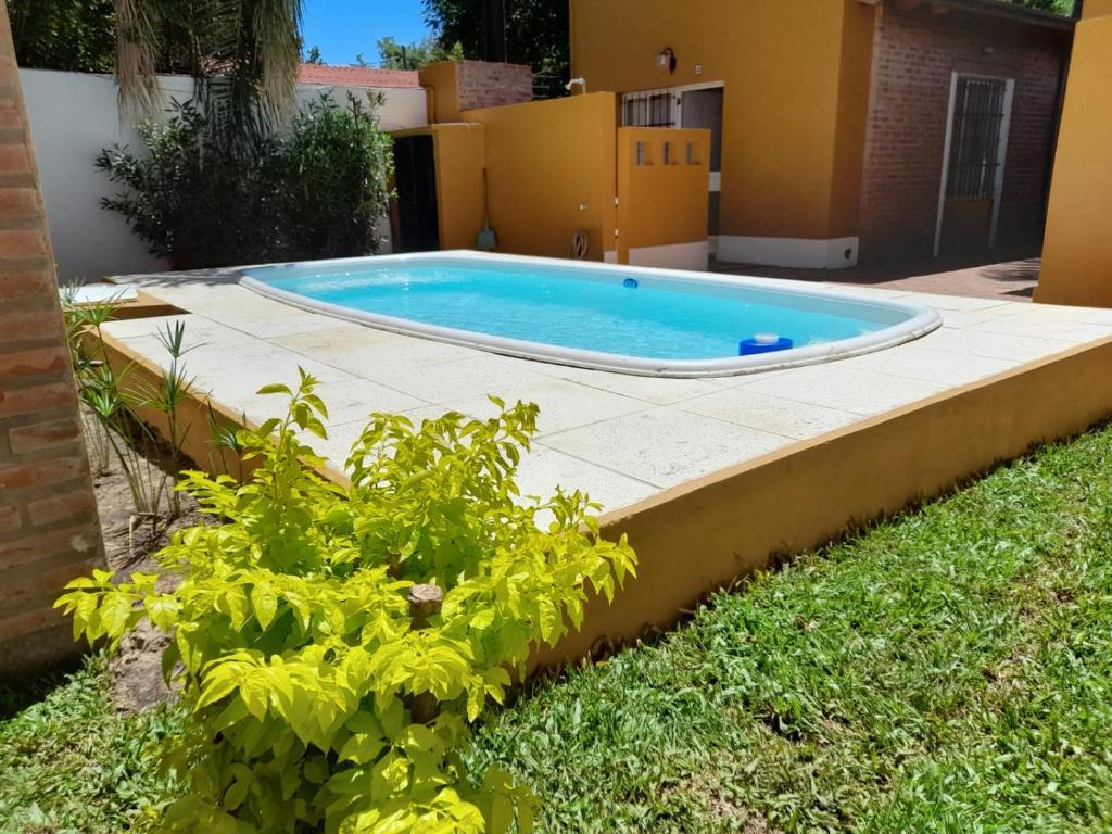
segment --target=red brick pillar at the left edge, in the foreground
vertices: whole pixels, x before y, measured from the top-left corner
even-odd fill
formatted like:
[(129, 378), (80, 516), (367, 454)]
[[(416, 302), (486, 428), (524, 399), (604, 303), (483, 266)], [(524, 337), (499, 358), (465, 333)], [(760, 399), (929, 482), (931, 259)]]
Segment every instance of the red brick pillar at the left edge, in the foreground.
[(0, 8), (0, 678), (75, 655), (51, 609), (102, 562), (7, 7)]

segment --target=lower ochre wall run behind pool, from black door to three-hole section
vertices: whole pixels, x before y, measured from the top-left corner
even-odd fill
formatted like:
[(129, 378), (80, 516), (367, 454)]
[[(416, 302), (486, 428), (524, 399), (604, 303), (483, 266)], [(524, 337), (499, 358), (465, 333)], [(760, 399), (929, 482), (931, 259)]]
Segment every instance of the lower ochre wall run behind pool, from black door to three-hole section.
[(676, 153), (692, 141), (701, 165), (632, 172), (627, 167), (619, 219), (615, 107), (610, 93), (574, 96), (467, 110), (466, 122), (397, 131), (399, 138), (418, 133), (434, 138), (440, 248), (474, 248), (483, 228), (484, 166), (498, 251), (567, 257), (573, 236), (584, 229), (588, 259), (620, 252), (617, 259), (625, 262), (631, 246), (705, 240), (708, 131), (638, 133), (656, 153), (662, 152), (665, 137)]

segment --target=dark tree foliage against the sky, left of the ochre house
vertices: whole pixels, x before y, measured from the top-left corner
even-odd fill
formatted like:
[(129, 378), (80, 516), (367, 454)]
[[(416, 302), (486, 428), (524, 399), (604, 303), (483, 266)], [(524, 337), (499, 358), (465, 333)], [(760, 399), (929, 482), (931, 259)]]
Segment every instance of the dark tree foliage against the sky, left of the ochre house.
[[(464, 57), (481, 59), (484, 0), (423, 0), (425, 21), (441, 48), (460, 46)], [(505, 0), (506, 60), (533, 68), (538, 97), (564, 95), (570, 69), (568, 11), (554, 0)]]

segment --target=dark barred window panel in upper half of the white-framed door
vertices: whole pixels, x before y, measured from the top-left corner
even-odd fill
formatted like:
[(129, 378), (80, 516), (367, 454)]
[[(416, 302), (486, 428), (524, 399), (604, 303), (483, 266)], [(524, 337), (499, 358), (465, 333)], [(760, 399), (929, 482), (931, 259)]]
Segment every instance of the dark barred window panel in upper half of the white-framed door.
[(994, 196), (1006, 89), (1002, 79), (957, 79), (946, 197), (979, 200)]

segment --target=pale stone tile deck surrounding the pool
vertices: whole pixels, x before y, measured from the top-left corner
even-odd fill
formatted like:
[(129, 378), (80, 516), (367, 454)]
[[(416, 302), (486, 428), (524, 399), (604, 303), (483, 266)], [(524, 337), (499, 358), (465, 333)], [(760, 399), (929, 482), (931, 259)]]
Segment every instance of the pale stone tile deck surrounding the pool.
[(865, 356), (715, 379), (634, 377), (496, 356), (302, 312), (236, 286), (225, 274), (131, 276), (182, 316), (110, 322), (106, 331), (152, 361), (151, 336), (186, 322), (198, 385), (261, 420), (280, 408), (255, 395), (292, 383), (298, 366), (321, 378), (330, 437), (318, 450), (342, 466), (364, 417), (397, 410), (421, 419), (455, 409), (485, 417), (495, 393), (542, 409), (523, 492), (584, 488), (616, 509), (667, 487), (753, 459), (867, 416), (1112, 337), (1112, 311), (1032, 306), (855, 287), (937, 308), (939, 330)]

